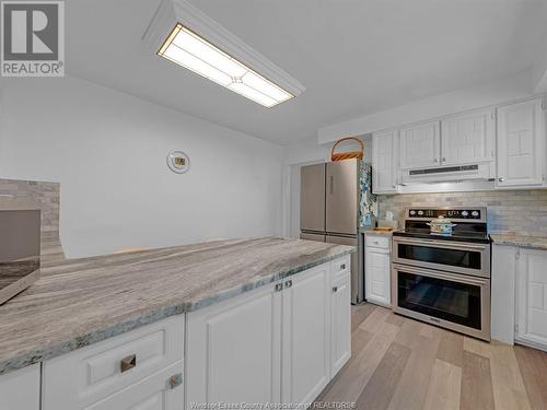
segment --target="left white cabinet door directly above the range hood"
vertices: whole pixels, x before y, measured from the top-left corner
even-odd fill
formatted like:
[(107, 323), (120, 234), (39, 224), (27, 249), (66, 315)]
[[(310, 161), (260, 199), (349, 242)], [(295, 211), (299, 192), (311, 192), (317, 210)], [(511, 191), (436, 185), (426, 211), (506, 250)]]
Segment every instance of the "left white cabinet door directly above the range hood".
[(440, 165), (441, 138), (439, 121), (400, 129), (400, 167), (427, 168)]

